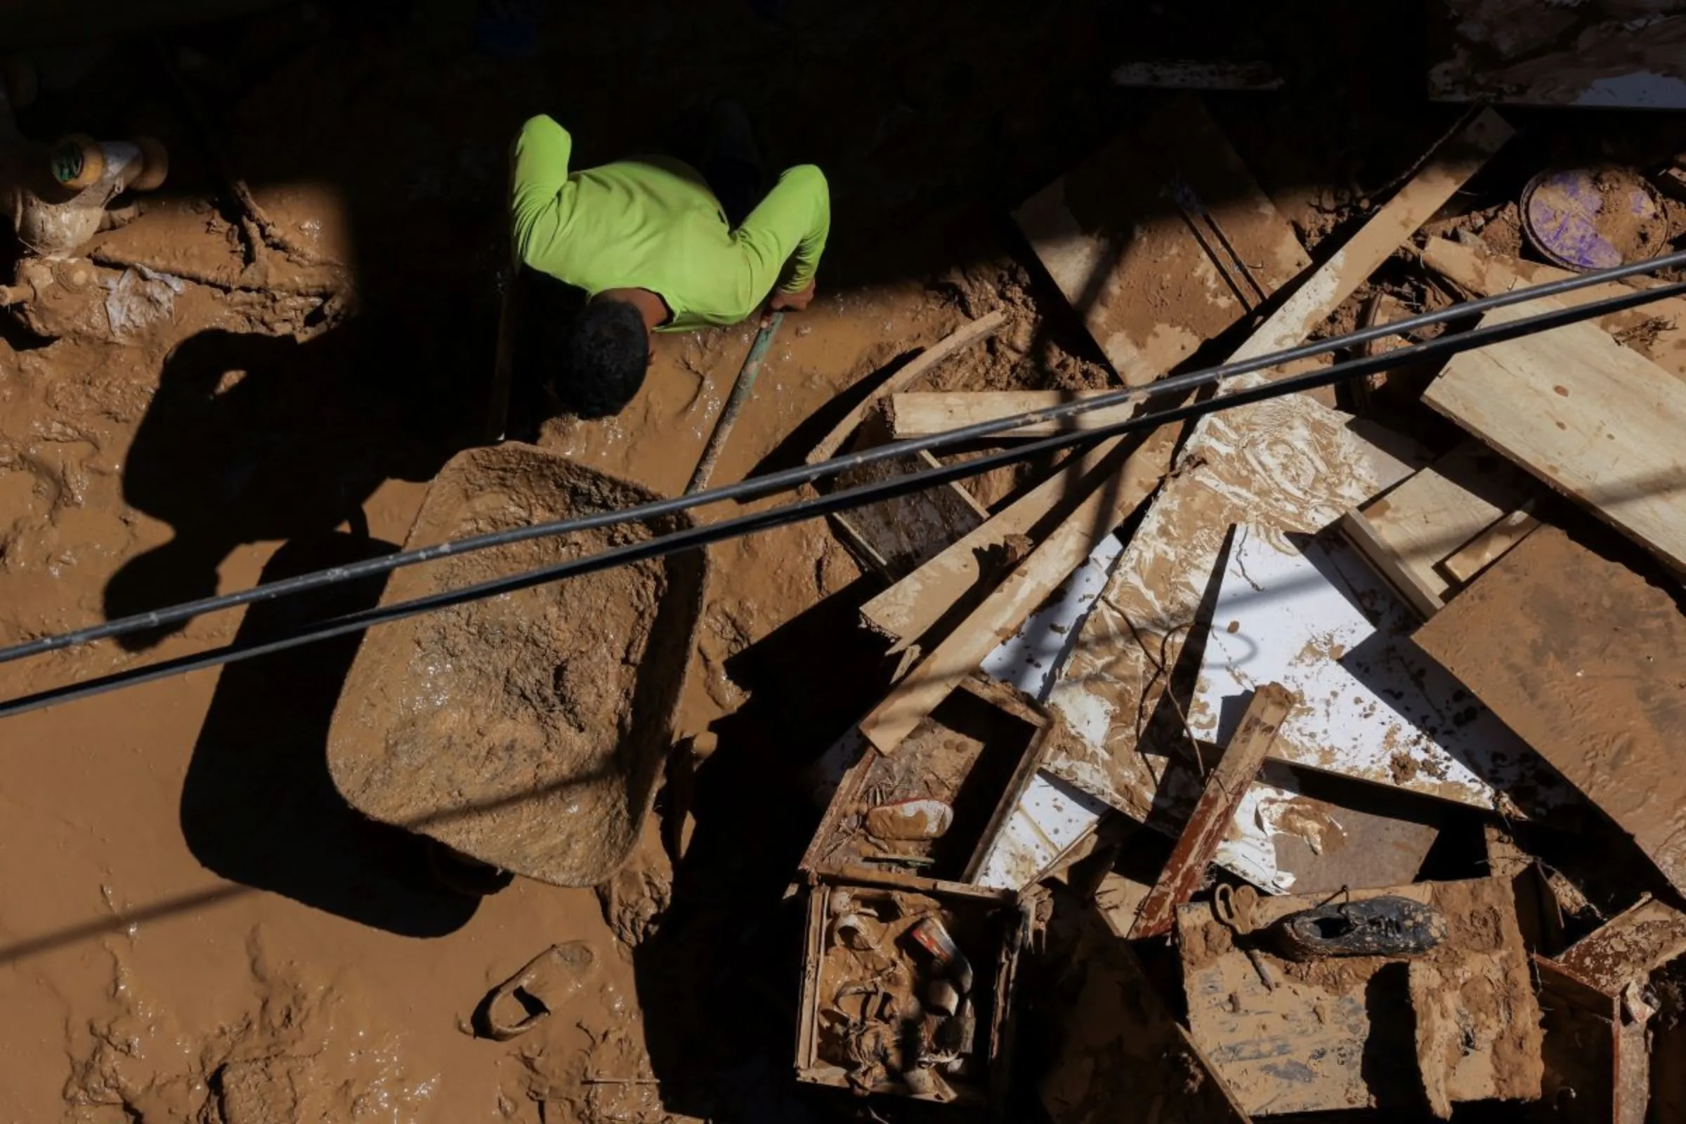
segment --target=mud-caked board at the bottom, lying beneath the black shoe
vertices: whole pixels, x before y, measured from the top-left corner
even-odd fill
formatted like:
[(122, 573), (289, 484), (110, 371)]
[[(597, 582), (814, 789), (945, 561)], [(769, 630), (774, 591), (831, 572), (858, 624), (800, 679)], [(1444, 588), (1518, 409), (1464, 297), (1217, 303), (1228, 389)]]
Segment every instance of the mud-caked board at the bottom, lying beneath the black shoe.
[[(1538, 1097), (1539, 1006), (1509, 880), (1356, 890), (1352, 898), (1383, 893), (1433, 903), (1447, 940), (1409, 962), (1295, 962), (1276, 955), (1268, 932), (1238, 939), (1211, 903), (1177, 910), (1189, 1030), (1248, 1112), (1406, 1107), (1420, 1104), (1426, 1084), (1450, 1100)], [(1322, 903), (1261, 898), (1254, 920), (1268, 927)], [(1413, 988), (1413, 972), (1418, 981), (1433, 974), (1435, 988)], [(1433, 1003), (1413, 1009), (1423, 998)], [(1458, 1043), (1452, 1057), (1436, 1046), (1448, 1025)]]

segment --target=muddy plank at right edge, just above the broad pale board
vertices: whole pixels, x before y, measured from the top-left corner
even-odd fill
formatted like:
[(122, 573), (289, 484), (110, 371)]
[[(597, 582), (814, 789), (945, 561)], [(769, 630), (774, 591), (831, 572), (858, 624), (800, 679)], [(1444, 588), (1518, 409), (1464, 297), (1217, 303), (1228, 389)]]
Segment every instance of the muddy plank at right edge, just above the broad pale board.
[[(1511, 292), (1516, 285), (1544, 285), (1575, 276), (1568, 270), (1443, 238), (1428, 239), (1428, 244), (1423, 246), (1423, 265), (1472, 297), (1494, 297)], [(1635, 288), (1654, 285), (1659, 285), (1654, 278), (1632, 278), (1625, 283), (1608, 281), (1563, 293), (1556, 300), (1575, 308), (1595, 300), (1625, 297)], [(1686, 379), (1686, 297), (1664, 297), (1640, 308), (1612, 312), (1598, 317), (1593, 324), (1674, 377)]]

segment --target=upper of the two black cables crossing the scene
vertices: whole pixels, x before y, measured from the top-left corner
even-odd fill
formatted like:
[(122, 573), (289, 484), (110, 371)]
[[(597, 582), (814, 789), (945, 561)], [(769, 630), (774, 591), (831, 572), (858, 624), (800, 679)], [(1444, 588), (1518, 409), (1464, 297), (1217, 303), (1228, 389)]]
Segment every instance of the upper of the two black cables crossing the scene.
[[(395, 554), (383, 554), (381, 558), (369, 558), (346, 566), (330, 566), (329, 570), (317, 570), (314, 573), (305, 573), (293, 578), (283, 578), (282, 581), (270, 581), (266, 585), (258, 585), (250, 590), (236, 590), (234, 593), (221, 593), (216, 597), (199, 598), (196, 602), (184, 602), (180, 605), (172, 605), (167, 608), (135, 613), (132, 617), (120, 617), (118, 620), (108, 620), (105, 624), (89, 625), (86, 629), (76, 629), (72, 632), (62, 632), (51, 637), (39, 637), (35, 640), (25, 640), (24, 644), (13, 644), (12, 647), (0, 649), (0, 664), (13, 659), (24, 659), (29, 656), (40, 656), (44, 652), (76, 647), (81, 644), (91, 644), (94, 640), (126, 635), (132, 632), (147, 632), (164, 625), (191, 620), (194, 617), (202, 617), (204, 613), (212, 613), (224, 608), (238, 608), (241, 605), (253, 605), (256, 602), (268, 602), (280, 597), (288, 597), (292, 593), (303, 593), (305, 590), (315, 590), (325, 585), (336, 585), (339, 581), (352, 581), (378, 573), (391, 573), (393, 570), (400, 570), (403, 566), (415, 566), (440, 558), (448, 558), (452, 554), (465, 554), (469, 551), (481, 551), (492, 546), (506, 546), (509, 543), (524, 543), (528, 539), (550, 538), (555, 534), (568, 534), (573, 531), (592, 531), (597, 527), (614, 526), (617, 522), (654, 519), (659, 516), (668, 516), (691, 507), (700, 507), (703, 504), (757, 499), (771, 492), (779, 492), (803, 484), (811, 484), (823, 477), (836, 475), (840, 472), (860, 465), (870, 465), (878, 460), (904, 457), (907, 453), (915, 453), (921, 450), (946, 448), (949, 445), (975, 442), (978, 438), (990, 436), (993, 433), (1017, 430), (1022, 425), (1034, 425), (1039, 421), (1062, 421), (1066, 418), (1087, 413), (1091, 409), (1106, 409), (1109, 406), (1121, 406), (1126, 403), (1145, 401), (1148, 398), (1157, 398), (1160, 394), (1179, 394), (1185, 391), (1194, 391), (1204, 386), (1211, 386), (1221, 379), (1234, 377), (1238, 374), (1263, 371), (1268, 367), (1281, 366), (1285, 362), (1293, 362), (1297, 359), (1307, 359), (1310, 356), (1320, 356), (1324, 352), (1340, 351), (1344, 347), (1366, 344), (1374, 339), (1383, 339), (1388, 335), (1404, 335), (1421, 327), (1431, 327), (1445, 324), (1447, 320), (1472, 317), (1480, 312), (1487, 312), (1490, 308), (1501, 308), (1504, 305), (1512, 305), (1524, 300), (1538, 300), (1541, 297), (1554, 297), (1558, 293), (1568, 293), (1578, 288), (1585, 288), (1588, 285), (1600, 285), (1625, 276), (1634, 276), (1639, 273), (1651, 273), (1654, 270), (1662, 270), (1669, 266), (1686, 266), (1686, 251), (1667, 254), (1662, 258), (1652, 258), (1649, 261), (1615, 266), (1610, 270), (1600, 270), (1597, 273), (1581, 273), (1576, 276), (1563, 278), (1560, 281), (1549, 281), (1546, 285), (1534, 285), (1529, 288), (1511, 290), (1507, 293), (1499, 293), (1494, 297), (1482, 297), (1480, 300), (1463, 302), (1458, 305), (1452, 305), (1450, 308), (1425, 312), (1404, 320), (1394, 320), (1391, 324), (1377, 324), (1367, 329), (1359, 329), (1356, 332), (1347, 332), (1345, 335), (1302, 344), (1298, 347), (1271, 352), (1268, 356), (1259, 356), (1256, 359), (1246, 359), (1243, 362), (1232, 362), (1217, 367), (1205, 367), (1202, 371), (1190, 371), (1187, 374), (1160, 379), (1146, 386), (1126, 388), (1114, 391), (1111, 394), (1096, 394), (1093, 398), (1060, 403), (1057, 406), (1045, 406), (1042, 409), (1032, 409), (1010, 418), (980, 421), (976, 425), (961, 426), (958, 430), (949, 430), (946, 433), (932, 436), (892, 442), (889, 445), (878, 445), (868, 450), (833, 457), (831, 460), (823, 460), (819, 463), (797, 465), (794, 468), (771, 472), (762, 477), (752, 477), (749, 480), (727, 484), (703, 492), (693, 492), (690, 495), (679, 495), (666, 500), (654, 500), (649, 504), (641, 504), (637, 507), (627, 507), (622, 511), (599, 512), (593, 516), (578, 516), (572, 519), (560, 519), (555, 522), (538, 522), (524, 527), (509, 527), (506, 531), (477, 534), (452, 543), (438, 543), (435, 546), (422, 546), (416, 549), (400, 551)], [(1640, 292), (1659, 293), (1662, 290), (1640, 290)]]

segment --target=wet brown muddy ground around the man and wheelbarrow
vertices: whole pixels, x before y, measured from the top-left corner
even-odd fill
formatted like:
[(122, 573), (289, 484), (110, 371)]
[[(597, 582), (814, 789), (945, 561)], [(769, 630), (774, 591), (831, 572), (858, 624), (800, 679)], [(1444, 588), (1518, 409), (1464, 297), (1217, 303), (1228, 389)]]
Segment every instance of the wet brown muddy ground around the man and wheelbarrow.
[[(477, 42), (472, 5), (366, 0), (42, 54), (30, 136), (148, 131), (172, 152), (167, 187), (96, 246), (103, 280), (133, 261), (187, 280), (148, 290), (116, 340), (5, 322), (0, 642), (395, 549), (425, 482), (479, 440), (504, 153), (529, 113), (558, 116), (588, 165), (663, 147), (681, 111), (732, 96), (774, 165), (826, 170), (821, 295), (787, 320), (717, 482), (797, 462), (850, 388), (996, 307), (1008, 329), (936, 386), (1109, 381), (1005, 216), (1157, 104), (1109, 86), (1116, 62), (1283, 66), (1288, 93), (1211, 103), (1313, 258), (1455, 118), (1420, 98), (1415, 5), (1268, 27), (1244, 5), (1173, 7), (555, 5), (536, 56), (507, 57)], [(292, 256), (251, 249), (207, 135)], [(622, 416), (551, 420), (540, 443), (676, 494), (750, 334), (663, 337)], [(636, 949), (588, 890), (454, 895), (415, 836), (339, 800), (324, 748), (356, 639), (0, 723), (0, 1114), (870, 1119), (787, 1079), (799, 918), (782, 891), (818, 817), (801, 767), (890, 672), (855, 625), (877, 578), (823, 524), (713, 548), (713, 573), (679, 733), (711, 730), (720, 750), (671, 907)], [(0, 689), (379, 597), (341, 586), (3, 666)], [(637, 871), (634, 891), (668, 893)], [(514, 1043), (474, 1038), (487, 988), (566, 940), (599, 954), (568, 1011)]]

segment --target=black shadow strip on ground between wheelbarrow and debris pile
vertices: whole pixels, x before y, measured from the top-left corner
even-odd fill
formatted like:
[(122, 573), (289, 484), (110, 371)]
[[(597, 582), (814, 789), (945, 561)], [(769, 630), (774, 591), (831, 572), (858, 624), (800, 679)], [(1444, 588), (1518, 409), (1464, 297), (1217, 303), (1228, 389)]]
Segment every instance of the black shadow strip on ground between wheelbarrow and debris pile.
[[(860, 578), (727, 662), (749, 703), (715, 725), (673, 907), (634, 949), (651, 1063), (673, 1112), (814, 1119), (791, 1102), (803, 898), (786, 898), (819, 807), (803, 768), (882, 694)], [(823, 1119), (823, 1117), (821, 1117)]]

